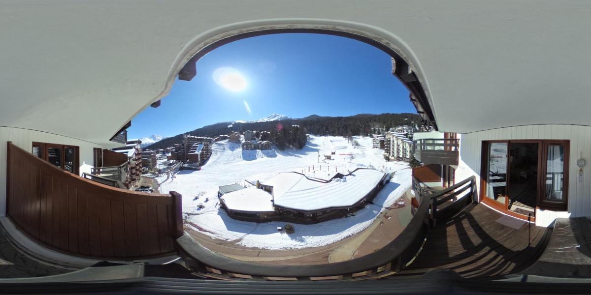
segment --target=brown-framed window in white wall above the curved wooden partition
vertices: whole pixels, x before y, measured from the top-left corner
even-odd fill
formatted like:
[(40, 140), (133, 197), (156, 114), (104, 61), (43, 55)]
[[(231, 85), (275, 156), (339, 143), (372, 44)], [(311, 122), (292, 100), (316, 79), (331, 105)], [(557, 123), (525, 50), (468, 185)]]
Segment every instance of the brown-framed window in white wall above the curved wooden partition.
[(77, 146), (56, 145), (54, 143), (33, 143), (33, 155), (46, 160), (57, 168), (78, 174), (79, 150)]

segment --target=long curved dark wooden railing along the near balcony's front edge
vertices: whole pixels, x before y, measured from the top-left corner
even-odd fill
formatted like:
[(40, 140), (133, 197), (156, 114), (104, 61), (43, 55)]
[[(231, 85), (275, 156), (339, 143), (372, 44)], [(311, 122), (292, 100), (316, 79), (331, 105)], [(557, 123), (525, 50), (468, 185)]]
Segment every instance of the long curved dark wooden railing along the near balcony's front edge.
[[(397, 273), (413, 260), (427, 236), (432, 225), (432, 218), (441, 219), (443, 215), (431, 215), (433, 200), (447, 198), (456, 189), (465, 191), (462, 186), (473, 183), (474, 178), (466, 179), (442, 192), (422, 191), (423, 198), (414, 213), (413, 219), (393, 241), (374, 253), (355, 258), (353, 260), (330, 264), (316, 264), (310, 266), (297, 265), (269, 265), (235, 260), (215, 253), (193, 240), (189, 235), (178, 238), (179, 254), (187, 266), (202, 276), (220, 279), (238, 280), (364, 280), (380, 278)], [(413, 183), (413, 186), (416, 184)], [(469, 186), (467, 194), (475, 194), (475, 186)], [(458, 192), (457, 194), (461, 194)], [(472, 200), (467, 196), (461, 198), (459, 204), (465, 205), (465, 200)], [(459, 210), (459, 206), (449, 207)], [(441, 211), (447, 214), (450, 209)], [(437, 212), (437, 208), (433, 212)]]

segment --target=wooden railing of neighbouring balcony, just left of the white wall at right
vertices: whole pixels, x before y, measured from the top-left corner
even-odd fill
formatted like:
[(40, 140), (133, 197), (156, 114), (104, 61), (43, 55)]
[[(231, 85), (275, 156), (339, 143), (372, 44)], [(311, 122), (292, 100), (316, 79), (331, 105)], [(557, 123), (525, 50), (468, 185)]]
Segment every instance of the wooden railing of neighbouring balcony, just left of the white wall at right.
[(413, 146), (414, 158), (425, 165), (457, 165), (459, 162), (459, 139), (417, 139)]

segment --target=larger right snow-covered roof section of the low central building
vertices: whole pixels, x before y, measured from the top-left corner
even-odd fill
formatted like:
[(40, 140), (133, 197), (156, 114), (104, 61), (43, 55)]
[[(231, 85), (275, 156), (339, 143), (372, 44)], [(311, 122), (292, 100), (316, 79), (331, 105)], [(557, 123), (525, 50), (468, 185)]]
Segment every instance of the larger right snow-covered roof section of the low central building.
[(275, 205), (284, 208), (317, 211), (331, 207), (349, 207), (369, 194), (382, 180), (384, 172), (357, 169), (343, 179), (313, 181), (296, 173), (279, 173), (264, 185), (273, 186)]

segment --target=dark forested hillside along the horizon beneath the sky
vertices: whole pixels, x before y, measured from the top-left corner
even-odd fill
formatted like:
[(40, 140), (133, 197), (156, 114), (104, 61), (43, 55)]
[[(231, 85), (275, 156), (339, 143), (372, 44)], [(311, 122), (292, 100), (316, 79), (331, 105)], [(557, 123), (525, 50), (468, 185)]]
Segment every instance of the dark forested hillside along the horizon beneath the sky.
[[(285, 119), (268, 122), (220, 122), (183, 134), (216, 137), (218, 135), (228, 134), (230, 131), (271, 130), (278, 124), (282, 124), (283, 126), (296, 124), (304, 129), (304, 132), (311, 135), (354, 136), (374, 133), (376, 127), (387, 130), (402, 124), (414, 125), (422, 124), (422, 122), (418, 114), (411, 113), (356, 114), (355, 116), (347, 117), (327, 117), (313, 114), (301, 119)], [(174, 143), (181, 143), (183, 141), (183, 134), (160, 140), (147, 146), (145, 149), (163, 149), (174, 145)]]

